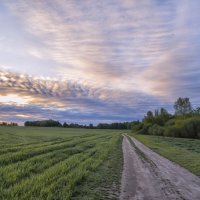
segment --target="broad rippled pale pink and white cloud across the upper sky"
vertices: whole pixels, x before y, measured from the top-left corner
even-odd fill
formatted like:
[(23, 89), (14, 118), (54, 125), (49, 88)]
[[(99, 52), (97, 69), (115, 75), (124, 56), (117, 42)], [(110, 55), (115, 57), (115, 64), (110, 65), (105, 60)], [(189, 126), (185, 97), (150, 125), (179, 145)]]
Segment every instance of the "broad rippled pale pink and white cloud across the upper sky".
[(153, 1), (12, 1), (7, 5), (43, 44), (29, 53), (57, 63), (54, 75), (112, 88), (123, 79), (124, 89), (137, 85), (137, 73), (168, 48), (170, 16), (175, 12), (173, 4), (157, 6)]

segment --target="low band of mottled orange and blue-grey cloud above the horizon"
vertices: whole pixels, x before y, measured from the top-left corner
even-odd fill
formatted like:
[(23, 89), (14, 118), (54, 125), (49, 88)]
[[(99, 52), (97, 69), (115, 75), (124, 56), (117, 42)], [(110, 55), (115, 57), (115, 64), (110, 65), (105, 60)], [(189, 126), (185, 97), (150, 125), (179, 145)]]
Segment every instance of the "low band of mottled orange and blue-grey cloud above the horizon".
[[(9, 113), (20, 119), (22, 115), (30, 114), (30, 118), (71, 117), (79, 120), (81, 117), (89, 119), (87, 116), (90, 116), (91, 120), (103, 120), (103, 117), (104, 120), (130, 120), (142, 117), (147, 108), (161, 106), (160, 101), (146, 94), (90, 88), (87, 85), (39, 79), (5, 70), (0, 71), (0, 90), (1, 99), (7, 101), (0, 101), (1, 114)], [(151, 99), (150, 103), (147, 103), (147, 99)]]

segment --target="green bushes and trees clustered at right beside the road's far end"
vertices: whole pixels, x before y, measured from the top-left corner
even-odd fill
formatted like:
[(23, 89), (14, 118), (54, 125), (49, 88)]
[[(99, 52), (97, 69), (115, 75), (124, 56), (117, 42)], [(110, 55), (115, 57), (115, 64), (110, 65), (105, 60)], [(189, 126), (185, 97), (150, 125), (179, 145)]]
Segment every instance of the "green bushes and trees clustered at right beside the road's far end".
[(187, 97), (179, 97), (173, 107), (174, 114), (165, 108), (147, 111), (143, 120), (132, 126), (132, 131), (138, 134), (200, 138), (200, 107), (193, 109)]

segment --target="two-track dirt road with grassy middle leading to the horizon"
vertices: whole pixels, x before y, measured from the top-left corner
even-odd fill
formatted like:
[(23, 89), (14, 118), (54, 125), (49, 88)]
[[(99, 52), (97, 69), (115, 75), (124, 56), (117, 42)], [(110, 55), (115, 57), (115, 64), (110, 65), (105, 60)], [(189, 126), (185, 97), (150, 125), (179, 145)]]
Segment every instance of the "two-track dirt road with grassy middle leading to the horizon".
[(200, 178), (134, 138), (123, 139), (122, 200), (200, 200)]

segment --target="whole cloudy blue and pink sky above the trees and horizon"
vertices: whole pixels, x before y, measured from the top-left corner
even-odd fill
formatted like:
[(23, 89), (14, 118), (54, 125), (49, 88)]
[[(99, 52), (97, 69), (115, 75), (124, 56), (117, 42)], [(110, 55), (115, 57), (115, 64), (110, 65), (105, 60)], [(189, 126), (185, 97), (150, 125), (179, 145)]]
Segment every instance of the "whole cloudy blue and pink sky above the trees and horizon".
[(199, 0), (0, 0), (0, 121), (81, 124), (200, 106)]

